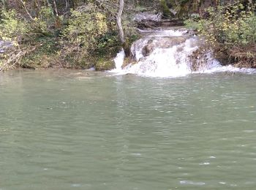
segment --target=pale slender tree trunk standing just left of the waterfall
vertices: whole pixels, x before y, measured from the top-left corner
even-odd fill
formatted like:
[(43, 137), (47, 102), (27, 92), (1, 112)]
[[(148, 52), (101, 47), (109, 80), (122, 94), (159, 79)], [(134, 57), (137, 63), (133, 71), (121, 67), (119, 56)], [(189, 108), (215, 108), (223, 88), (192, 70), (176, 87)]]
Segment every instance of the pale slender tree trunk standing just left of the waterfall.
[(121, 45), (124, 48), (125, 56), (129, 57), (131, 55), (131, 50), (129, 47), (129, 43), (124, 38), (124, 29), (123, 29), (123, 26), (121, 25), (121, 15), (123, 14), (123, 10), (124, 10), (124, 0), (119, 0), (119, 8), (118, 8), (118, 13), (116, 15), (118, 36), (119, 36)]

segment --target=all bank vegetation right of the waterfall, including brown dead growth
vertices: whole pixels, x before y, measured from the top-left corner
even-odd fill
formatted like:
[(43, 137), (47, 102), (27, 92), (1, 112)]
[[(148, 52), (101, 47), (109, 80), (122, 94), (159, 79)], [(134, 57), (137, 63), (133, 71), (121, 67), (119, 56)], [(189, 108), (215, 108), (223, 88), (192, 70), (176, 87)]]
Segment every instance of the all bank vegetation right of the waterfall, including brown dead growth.
[(206, 48), (223, 64), (256, 67), (255, 4), (209, 7), (203, 18), (190, 18), (185, 23), (199, 32)]

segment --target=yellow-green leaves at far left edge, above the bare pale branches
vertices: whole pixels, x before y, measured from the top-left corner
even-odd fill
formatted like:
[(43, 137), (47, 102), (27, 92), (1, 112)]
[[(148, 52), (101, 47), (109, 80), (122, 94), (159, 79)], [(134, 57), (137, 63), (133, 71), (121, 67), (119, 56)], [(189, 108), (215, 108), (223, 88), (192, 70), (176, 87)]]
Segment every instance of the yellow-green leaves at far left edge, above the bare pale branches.
[(0, 15), (0, 38), (14, 45), (35, 42), (37, 37), (55, 34), (56, 20), (50, 7), (41, 7), (39, 17), (34, 20), (26, 20), (15, 9), (1, 9)]

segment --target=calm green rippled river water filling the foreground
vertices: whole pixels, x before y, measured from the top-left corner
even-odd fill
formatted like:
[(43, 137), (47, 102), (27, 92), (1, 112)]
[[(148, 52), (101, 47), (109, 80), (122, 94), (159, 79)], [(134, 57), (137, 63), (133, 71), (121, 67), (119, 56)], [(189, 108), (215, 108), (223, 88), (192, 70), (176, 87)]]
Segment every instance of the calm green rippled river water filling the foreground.
[(0, 75), (0, 189), (256, 189), (256, 75)]

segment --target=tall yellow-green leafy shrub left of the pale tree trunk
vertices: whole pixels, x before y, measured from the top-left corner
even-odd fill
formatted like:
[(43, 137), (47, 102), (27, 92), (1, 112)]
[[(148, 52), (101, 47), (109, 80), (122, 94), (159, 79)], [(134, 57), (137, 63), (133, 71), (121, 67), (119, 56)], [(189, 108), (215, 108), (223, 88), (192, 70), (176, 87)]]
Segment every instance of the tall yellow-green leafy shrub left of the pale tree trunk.
[(95, 4), (72, 10), (68, 26), (62, 34), (61, 56), (69, 63), (75, 62), (81, 64), (80, 67), (89, 67), (91, 64), (87, 64), (83, 59), (89, 59), (91, 53), (97, 49), (98, 41), (102, 42), (99, 45), (104, 46), (103, 37), (107, 33), (106, 15), (98, 12)]

